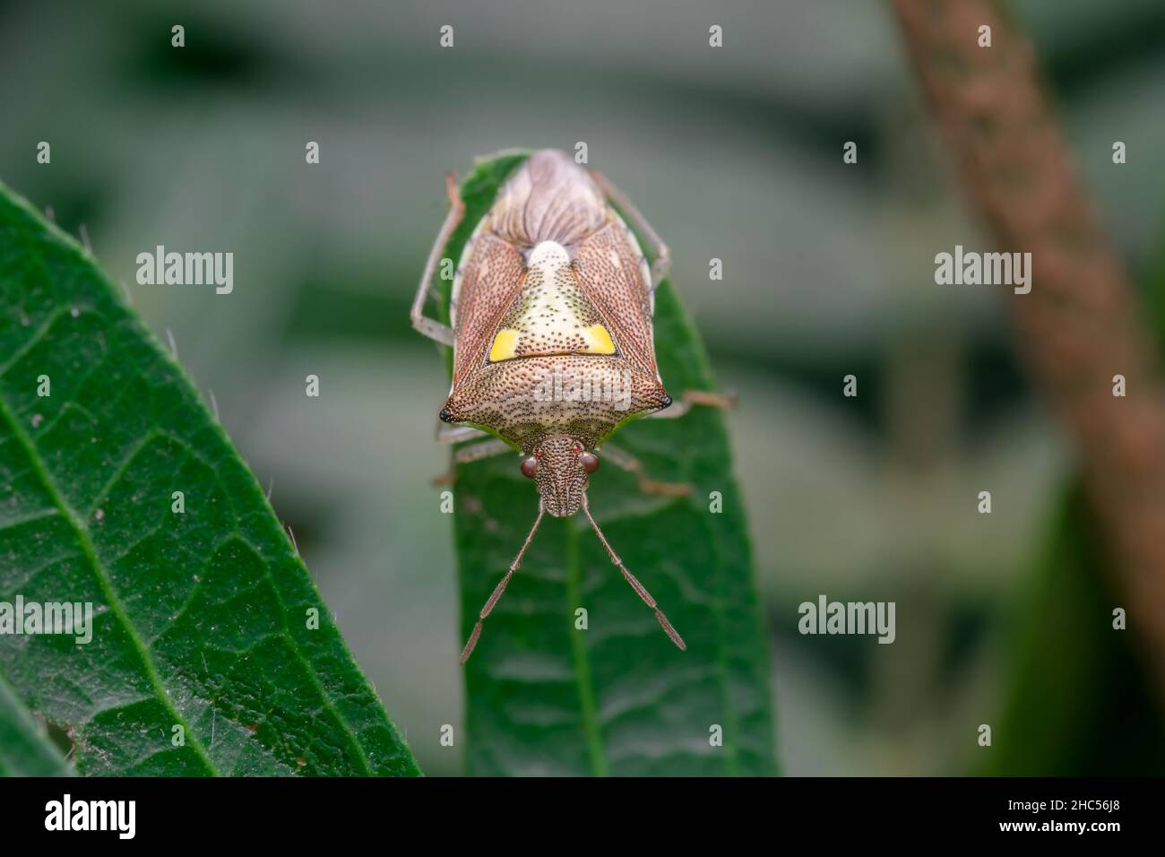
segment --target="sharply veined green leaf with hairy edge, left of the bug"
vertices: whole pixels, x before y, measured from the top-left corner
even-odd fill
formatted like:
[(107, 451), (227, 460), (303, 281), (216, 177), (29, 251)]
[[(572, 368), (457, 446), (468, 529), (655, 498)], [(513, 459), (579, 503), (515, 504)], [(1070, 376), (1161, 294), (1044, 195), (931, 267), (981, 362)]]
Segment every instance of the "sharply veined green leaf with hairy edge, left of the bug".
[(0, 634), (0, 672), (79, 773), (418, 773), (182, 370), (0, 185), (0, 602), (17, 596), (93, 605), (87, 644)]

